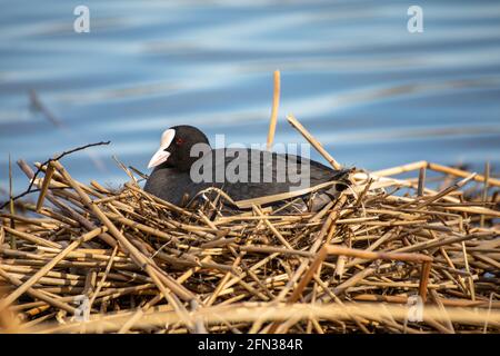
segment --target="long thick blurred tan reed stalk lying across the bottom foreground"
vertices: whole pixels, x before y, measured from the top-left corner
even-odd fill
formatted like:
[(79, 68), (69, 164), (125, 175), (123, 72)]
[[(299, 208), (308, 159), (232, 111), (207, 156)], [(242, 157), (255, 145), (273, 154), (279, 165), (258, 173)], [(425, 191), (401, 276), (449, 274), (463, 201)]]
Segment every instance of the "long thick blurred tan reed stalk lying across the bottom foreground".
[[(424, 322), (448, 322), (456, 324), (463, 324), (468, 326), (480, 325), (489, 322), (489, 326), (493, 328), (500, 327), (500, 313), (498, 310), (469, 310), (464, 308), (446, 307), (443, 309), (437, 306), (427, 306), (424, 308)], [(267, 306), (263, 304), (238, 304), (233, 306), (214, 306), (193, 312), (193, 317), (202, 318), (208, 325), (218, 324), (220, 319), (230, 323), (248, 323), (258, 319), (264, 320), (287, 320), (290, 318), (308, 319), (314, 317), (323, 320), (349, 320), (352, 316), (367, 320), (380, 320), (390, 315), (394, 320), (404, 322), (408, 318), (408, 308), (404, 306), (386, 305), (380, 308), (377, 305), (363, 303), (346, 303), (343, 305), (330, 304), (293, 304), (293, 305), (273, 305)], [(102, 327), (107, 332), (118, 330), (123, 319), (128, 315), (113, 315), (109, 318), (100, 317), (86, 323), (88, 332), (97, 330)], [(152, 312), (147, 313), (140, 320), (137, 322), (136, 327), (148, 328), (151, 326), (161, 326), (164, 324), (181, 323), (181, 319), (172, 312)], [(71, 323), (61, 326), (53, 326), (50, 329), (34, 328), (37, 333), (70, 333), (76, 332), (81, 327), (82, 323)]]

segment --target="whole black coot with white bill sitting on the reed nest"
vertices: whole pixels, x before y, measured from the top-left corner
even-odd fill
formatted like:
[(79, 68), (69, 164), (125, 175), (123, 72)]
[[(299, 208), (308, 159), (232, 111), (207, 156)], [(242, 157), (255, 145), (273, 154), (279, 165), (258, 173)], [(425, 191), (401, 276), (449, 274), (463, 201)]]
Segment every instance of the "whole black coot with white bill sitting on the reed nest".
[[(233, 201), (304, 189), (328, 181), (327, 194), (343, 190), (347, 170), (288, 154), (248, 148), (212, 149), (207, 136), (192, 126), (174, 126), (161, 136), (148, 168), (154, 168), (144, 190), (176, 205), (217, 187)], [(339, 187), (341, 186), (341, 187)]]

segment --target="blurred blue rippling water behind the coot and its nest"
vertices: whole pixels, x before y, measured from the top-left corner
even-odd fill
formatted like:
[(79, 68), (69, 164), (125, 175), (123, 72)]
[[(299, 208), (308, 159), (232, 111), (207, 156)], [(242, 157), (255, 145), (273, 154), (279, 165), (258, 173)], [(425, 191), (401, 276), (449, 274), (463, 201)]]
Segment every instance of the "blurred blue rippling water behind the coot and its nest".
[[(76, 33), (73, 9), (90, 9)], [(423, 33), (407, 10), (423, 9)], [(12, 161), (63, 159), (117, 187), (112, 160), (147, 171), (161, 132), (266, 142), (281, 70), (277, 142), (296, 117), (348, 166), (500, 162), (500, 1), (0, 1), (0, 189)], [(316, 152), (312, 157), (321, 159)], [(14, 165), (14, 190), (27, 179)]]

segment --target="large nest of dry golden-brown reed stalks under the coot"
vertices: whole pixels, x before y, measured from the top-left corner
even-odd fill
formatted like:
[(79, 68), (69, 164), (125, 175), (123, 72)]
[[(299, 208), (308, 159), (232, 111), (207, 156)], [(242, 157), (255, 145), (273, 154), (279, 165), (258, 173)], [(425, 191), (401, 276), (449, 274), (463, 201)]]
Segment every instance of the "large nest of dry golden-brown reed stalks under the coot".
[(219, 191), (181, 208), (128, 169), (111, 191), (59, 160), (38, 165), (43, 179), (21, 168), (40, 194), (0, 211), (3, 332), (500, 330), (500, 181), (488, 172), (353, 170), (321, 210), (284, 212), (294, 198), (227, 211)]

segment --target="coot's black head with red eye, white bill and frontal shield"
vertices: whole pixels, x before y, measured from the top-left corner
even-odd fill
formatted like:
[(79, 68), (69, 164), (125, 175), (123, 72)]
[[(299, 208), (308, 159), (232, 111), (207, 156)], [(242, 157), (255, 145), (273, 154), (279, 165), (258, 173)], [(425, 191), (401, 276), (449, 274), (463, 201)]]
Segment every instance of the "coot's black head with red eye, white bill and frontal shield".
[(164, 166), (188, 171), (199, 157), (191, 157), (191, 148), (197, 144), (210, 147), (203, 132), (192, 126), (173, 126), (161, 135), (160, 148), (149, 161), (148, 168)]

